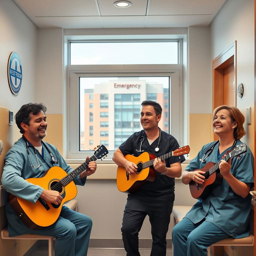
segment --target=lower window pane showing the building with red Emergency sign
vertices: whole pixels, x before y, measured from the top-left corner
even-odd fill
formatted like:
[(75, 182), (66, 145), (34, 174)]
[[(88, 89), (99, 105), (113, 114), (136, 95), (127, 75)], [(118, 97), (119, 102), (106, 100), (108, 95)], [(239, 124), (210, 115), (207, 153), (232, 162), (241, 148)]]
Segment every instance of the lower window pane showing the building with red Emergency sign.
[[(80, 77), (80, 150), (89, 150), (92, 141), (116, 150), (130, 135), (142, 130), (143, 100), (162, 106), (159, 127), (169, 132), (169, 81), (168, 76)], [(88, 120), (92, 120), (89, 126)]]

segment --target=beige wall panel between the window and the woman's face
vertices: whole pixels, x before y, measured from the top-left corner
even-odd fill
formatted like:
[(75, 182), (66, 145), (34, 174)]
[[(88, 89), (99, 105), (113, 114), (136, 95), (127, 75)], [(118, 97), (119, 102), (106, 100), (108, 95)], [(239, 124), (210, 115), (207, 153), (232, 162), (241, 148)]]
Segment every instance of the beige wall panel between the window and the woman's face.
[(189, 158), (196, 157), (202, 146), (212, 140), (212, 114), (189, 114)]

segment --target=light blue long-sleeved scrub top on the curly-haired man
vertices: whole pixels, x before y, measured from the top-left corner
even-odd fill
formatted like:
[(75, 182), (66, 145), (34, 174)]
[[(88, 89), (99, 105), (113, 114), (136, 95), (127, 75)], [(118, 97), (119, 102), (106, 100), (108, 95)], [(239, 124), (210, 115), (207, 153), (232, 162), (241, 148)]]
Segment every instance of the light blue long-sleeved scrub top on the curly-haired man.
[[(39, 164), (42, 164), (42, 166), (39, 168), (32, 168), (30, 158), (26, 150), (26, 142), (23, 138), (20, 138), (15, 142), (14, 146), (7, 152), (4, 158), (5, 165), (2, 174), (2, 185), (7, 192), (28, 200), (31, 203), (35, 203), (42, 194), (43, 188), (29, 183), (25, 179), (41, 177), (44, 172), (49, 169), (49, 166), (60, 166), (67, 173), (73, 171), (73, 169), (66, 164), (55, 146), (47, 142), (44, 143), (49, 148), (52, 155), (59, 161), (57, 164), (50, 163), (51, 156), (42, 144), (44, 151), (43, 158), (45, 161), (40, 156), (40, 153), (37, 152), (38, 162)], [(38, 166), (34, 149), (32, 147), (28, 147), (28, 150), (30, 151), (30, 157), (33, 164)], [(86, 177), (81, 180), (78, 175), (73, 181), (76, 185), (83, 186), (86, 182)], [(16, 216), (9, 202), (6, 204), (6, 216), (8, 219), (8, 231), (10, 236), (18, 236), (27, 233), (27, 227), (24, 226), (18, 216)]]

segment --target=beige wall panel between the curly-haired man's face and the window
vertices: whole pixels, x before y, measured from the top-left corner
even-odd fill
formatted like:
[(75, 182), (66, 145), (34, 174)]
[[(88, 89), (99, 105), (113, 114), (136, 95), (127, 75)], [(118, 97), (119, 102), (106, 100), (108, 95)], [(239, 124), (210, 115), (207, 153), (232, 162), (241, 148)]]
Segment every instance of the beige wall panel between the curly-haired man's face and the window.
[(63, 114), (47, 114), (47, 136), (44, 141), (56, 146), (63, 156)]

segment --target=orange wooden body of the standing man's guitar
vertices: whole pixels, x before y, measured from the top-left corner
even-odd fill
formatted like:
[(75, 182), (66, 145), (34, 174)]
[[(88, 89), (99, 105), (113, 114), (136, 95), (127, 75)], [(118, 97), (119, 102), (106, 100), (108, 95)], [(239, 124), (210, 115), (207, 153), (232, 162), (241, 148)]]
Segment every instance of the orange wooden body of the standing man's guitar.
[[(151, 159), (156, 158), (155, 155), (144, 152), (140, 156), (126, 155), (125, 158), (136, 164), (138, 167)], [(156, 171), (152, 167), (138, 171), (133, 175), (128, 175), (123, 166), (118, 166), (116, 175), (116, 184), (121, 192), (132, 193), (137, 191), (145, 182), (152, 182), (156, 178)]]

